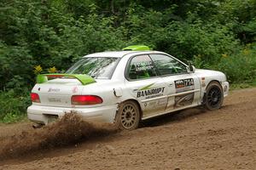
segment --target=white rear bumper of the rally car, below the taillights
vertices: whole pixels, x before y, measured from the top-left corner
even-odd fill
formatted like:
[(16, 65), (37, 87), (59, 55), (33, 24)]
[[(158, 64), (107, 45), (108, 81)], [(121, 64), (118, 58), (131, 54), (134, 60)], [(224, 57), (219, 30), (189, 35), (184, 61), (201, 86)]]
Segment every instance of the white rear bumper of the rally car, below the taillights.
[(52, 116), (61, 118), (65, 113), (75, 111), (84, 119), (96, 122), (114, 122), (117, 105), (108, 105), (94, 108), (66, 108), (31, 105), (27, 108), (27, 117), (32, 122), (48, 124)]

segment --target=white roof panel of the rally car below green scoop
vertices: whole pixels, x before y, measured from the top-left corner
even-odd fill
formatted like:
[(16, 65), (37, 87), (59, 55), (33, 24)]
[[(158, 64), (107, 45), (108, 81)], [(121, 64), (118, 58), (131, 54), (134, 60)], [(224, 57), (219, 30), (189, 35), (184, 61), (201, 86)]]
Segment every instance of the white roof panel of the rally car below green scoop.
[[(84, 57), (114, 57), (114, 58), (122, 58), (126, 54), (145, 54), (145, 53), (155, 53), (157, 51), (106, 51), (101, 53), (95, 53), (95, 54), (88, 54)], [(158, 52), (160, 53), (160, 52)], [(84, 58), (83, 57), (83, 58)]]

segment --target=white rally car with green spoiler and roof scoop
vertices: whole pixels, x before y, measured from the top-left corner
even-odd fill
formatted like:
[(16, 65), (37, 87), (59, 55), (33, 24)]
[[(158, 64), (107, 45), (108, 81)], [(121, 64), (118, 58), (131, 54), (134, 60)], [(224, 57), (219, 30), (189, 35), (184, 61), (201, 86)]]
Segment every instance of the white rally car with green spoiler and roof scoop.
[(27, 116), (48, 124), (75, 111), (92, 121), (134, 129), (141, 120), (197, 105), (221, 107), (224, 73), (195, 69), (147, 46), (88, 54), (65, 74), (38, 75)]

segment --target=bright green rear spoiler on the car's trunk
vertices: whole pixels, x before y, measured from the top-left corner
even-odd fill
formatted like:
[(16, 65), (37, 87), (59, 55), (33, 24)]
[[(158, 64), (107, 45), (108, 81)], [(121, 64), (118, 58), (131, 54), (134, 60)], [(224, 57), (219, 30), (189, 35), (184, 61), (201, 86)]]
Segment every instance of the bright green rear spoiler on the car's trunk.
[(94, 78), (85, 75), (85, 74), (42, 74), (38, 75), (37, 77), (37, 83), (44, 83), (48, 82), (48, 78), (54, 79), (54, 78), (60, 78), (60, 77), (73, 77), (79, 80), (83, 85), (90, 84), (93, 82), (96, 82)]

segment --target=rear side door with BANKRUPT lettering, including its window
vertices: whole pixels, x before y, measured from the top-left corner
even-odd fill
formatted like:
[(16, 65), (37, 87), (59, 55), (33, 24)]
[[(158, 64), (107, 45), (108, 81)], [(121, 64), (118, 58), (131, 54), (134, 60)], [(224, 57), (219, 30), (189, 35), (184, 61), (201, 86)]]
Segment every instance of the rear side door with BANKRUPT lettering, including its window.
[(127, 64), (125, 77), (125, 88), (140, 103), (143, 117), (166, 110), (166, 83), (157, 74), (148, 55), (132, 57)]

